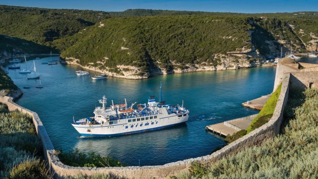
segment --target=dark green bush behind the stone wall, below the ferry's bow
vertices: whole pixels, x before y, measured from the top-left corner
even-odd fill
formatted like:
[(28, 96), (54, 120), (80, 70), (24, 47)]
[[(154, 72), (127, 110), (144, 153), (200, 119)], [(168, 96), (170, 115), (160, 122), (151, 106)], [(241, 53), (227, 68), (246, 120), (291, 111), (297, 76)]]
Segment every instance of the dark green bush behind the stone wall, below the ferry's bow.
[(74, 167), (123, 167), (125, 164), (111, 157), (104, 157), (94, 152), (84, 153), (78, 149), (63, 153), (58, 152), (62, 163)]

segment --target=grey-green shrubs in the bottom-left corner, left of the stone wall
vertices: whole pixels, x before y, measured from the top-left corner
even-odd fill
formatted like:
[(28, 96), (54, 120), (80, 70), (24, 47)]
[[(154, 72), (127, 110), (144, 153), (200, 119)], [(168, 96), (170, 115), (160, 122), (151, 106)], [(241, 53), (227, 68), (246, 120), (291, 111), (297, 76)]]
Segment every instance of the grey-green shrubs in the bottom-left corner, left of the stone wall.
[(0, 178), (52, 178), (32, 118), (0, 104)]

